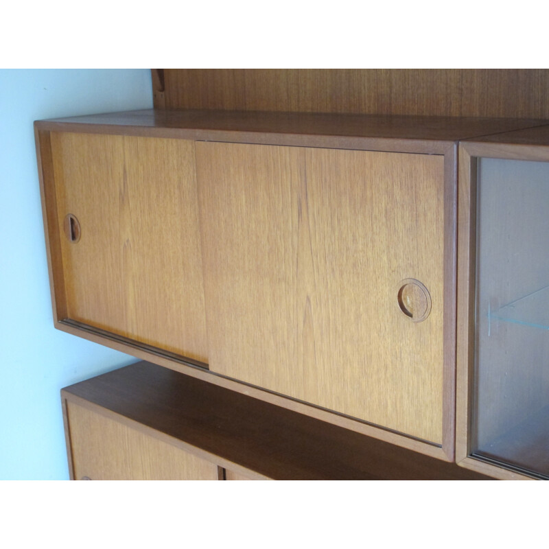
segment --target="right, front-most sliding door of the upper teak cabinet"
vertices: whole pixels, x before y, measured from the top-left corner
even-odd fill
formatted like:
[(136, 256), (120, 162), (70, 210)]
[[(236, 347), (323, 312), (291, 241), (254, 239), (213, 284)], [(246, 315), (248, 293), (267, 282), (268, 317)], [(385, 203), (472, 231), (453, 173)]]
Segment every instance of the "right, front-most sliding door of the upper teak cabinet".
[(210, 369), (440, 444), (443, 156), (199, 142), (196, 161)]

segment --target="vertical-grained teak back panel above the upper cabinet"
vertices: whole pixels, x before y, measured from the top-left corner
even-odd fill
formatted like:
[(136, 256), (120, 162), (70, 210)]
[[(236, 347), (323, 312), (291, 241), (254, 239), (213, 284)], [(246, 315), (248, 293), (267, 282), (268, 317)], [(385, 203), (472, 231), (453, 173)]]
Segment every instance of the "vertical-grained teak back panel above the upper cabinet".
[(549, 118), (548, 69), (161, 70), (156, 108)]

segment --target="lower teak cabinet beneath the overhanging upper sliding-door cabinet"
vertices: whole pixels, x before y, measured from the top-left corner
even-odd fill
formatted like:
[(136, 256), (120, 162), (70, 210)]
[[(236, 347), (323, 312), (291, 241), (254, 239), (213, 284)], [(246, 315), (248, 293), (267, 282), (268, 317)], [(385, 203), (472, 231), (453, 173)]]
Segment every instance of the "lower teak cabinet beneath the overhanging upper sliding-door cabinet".
[(74, 480), (489, 480), (148, 362), (61, 391)]

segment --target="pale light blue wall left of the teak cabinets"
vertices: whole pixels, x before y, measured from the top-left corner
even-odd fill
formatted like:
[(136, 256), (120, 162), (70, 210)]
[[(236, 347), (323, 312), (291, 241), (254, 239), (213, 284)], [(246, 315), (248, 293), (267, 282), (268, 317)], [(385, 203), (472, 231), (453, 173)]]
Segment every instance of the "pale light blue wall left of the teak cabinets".
[(0, 69), (0, 479), (68, 478), (59, 391), (135, 362), (53, 327), (32, 123), (152, 107), (148, 69)]

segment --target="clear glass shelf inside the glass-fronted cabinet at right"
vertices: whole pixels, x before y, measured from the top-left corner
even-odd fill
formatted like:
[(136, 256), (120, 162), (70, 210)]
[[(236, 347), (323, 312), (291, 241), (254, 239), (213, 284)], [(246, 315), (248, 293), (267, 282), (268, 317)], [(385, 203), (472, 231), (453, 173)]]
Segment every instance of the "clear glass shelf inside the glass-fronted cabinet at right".
[(488, 318), (523, 326), (549, 330), (549, 286), (503, 305), (496, 311), (488, 309)]

